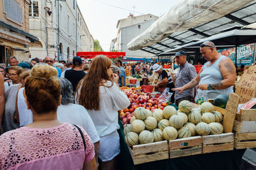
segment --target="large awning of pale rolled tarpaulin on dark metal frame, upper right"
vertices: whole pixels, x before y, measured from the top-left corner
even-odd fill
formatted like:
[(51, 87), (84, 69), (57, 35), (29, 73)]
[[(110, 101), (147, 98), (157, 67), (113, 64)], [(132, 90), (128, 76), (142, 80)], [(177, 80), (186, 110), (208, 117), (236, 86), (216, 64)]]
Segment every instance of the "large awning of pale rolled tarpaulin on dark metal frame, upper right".
[(183, 0), (127, 46), (159, 55), (223, 29), (252, 24), (255, 8), (255, 0)]

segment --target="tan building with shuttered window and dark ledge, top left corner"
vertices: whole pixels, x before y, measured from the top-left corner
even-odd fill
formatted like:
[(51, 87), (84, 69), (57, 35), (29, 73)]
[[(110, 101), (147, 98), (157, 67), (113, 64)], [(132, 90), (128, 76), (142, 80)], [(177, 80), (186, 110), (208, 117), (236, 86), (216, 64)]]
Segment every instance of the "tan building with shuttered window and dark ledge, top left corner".
[(29, 46), (38, 38), (29, 34), (28, 0), (0, 0), (0, 62), (10, 56), (29, 59)]

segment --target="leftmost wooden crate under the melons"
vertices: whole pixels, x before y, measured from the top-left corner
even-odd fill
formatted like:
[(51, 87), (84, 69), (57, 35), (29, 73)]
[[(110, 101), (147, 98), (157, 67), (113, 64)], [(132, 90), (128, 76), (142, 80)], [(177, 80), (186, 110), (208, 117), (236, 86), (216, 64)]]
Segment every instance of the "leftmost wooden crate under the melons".
[(128, 148), (134, 165), (169, 158), (167, 141), (134, 145)]

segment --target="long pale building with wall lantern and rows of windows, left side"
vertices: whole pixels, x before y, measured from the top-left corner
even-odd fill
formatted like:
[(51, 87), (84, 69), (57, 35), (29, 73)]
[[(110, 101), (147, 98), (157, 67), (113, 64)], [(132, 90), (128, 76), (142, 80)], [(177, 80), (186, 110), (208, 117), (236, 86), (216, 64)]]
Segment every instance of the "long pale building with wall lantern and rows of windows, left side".
[(31, 58), (67, 60), (77, 51), (93, 51), (93, 38), (76, 0), (31, 0), (29, 22), (31, 34), (40, 40), (29, 48)]

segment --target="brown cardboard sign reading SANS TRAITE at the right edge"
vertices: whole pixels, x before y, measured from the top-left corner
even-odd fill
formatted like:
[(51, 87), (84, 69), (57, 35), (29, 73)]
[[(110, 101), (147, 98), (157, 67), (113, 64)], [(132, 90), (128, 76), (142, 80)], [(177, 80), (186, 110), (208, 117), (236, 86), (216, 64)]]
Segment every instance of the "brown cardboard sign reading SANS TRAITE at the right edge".
[(236, 94), (240, 96), (239, 104), (246, 103), (256, 97), (256, 66), (244, 69), (244, 74), (236, 87)]

